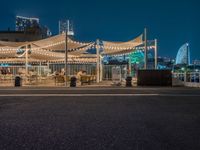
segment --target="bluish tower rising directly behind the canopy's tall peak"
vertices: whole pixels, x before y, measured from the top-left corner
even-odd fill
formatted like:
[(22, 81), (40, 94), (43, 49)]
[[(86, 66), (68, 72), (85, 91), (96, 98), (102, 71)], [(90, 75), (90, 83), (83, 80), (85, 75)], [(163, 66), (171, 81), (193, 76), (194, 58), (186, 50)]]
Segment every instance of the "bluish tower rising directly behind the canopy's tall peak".
[(68, 35), (74, 35), (73, 25), (69, 20), (59, 21), (59, 34), (68, 32)]

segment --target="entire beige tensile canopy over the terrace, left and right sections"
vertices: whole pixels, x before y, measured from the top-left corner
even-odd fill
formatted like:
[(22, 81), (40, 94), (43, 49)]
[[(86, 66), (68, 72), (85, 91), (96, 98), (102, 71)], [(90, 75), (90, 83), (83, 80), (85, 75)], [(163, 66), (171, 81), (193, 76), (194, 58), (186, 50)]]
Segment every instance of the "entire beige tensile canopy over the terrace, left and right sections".
[[(67, 41), (67, 42), (66, 42)], [(18, 63), (25, 62), (25, 51), (29, 51), (29, 62), (64, 62), (65, 49), (67, 46), (68, 62), (93, 63), (98, 61), (96, 54), (87, 54), (86, 52), (96, 47), (103, 48), (100, 55), (122, 55), (136, 50), (137, 47), (144, 47), (143, 34), (127, 42), (109, 42), (103, 41), (100, 46), (95, 42), (78, 42), (70, 37), (66, 39), (66, 34), (56, 35), (47, 39), (32, 42), (5, 42), (0, 41), (0, 62)], [(17, 51), (21, 50), (19, 55)]]

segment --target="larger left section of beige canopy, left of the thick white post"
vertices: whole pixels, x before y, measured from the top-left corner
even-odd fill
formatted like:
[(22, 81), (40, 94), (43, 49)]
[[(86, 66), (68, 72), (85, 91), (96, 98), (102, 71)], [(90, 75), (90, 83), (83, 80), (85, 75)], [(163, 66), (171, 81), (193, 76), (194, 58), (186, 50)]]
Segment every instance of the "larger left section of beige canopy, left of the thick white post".
[[(84, 54), (91, 49), (94, 43), (82, 43), (67, 38), (67, 50), (69, 62), (96, 62), (96, 55)], [(25, 62), (25, 51), (30, 51), (29, 62), (64, 62), (66, 47), (66, 35), (60, 34), (47, 39), (33, 42), (5, 42), (0, 41), (0, 62), (19, 63)], [(22, 54), (17, 51), (22, 50)], [(88, 58), (87, 58), (88, 57)]]

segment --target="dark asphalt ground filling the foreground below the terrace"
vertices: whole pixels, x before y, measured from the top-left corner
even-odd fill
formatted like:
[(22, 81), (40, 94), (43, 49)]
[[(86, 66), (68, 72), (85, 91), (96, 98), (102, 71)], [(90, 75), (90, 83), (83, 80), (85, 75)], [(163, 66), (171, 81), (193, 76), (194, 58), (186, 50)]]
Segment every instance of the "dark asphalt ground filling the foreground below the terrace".
[(0, 88), (0, 150), (199, 150), (200, 89)]

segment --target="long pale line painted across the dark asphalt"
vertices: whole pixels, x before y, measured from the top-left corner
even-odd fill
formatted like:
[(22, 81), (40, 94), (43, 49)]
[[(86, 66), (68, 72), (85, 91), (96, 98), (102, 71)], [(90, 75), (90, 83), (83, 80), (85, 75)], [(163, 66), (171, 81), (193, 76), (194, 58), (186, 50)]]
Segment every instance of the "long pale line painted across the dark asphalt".
[(0, 94), (0, 97), (200, 97), (195, 94)]

